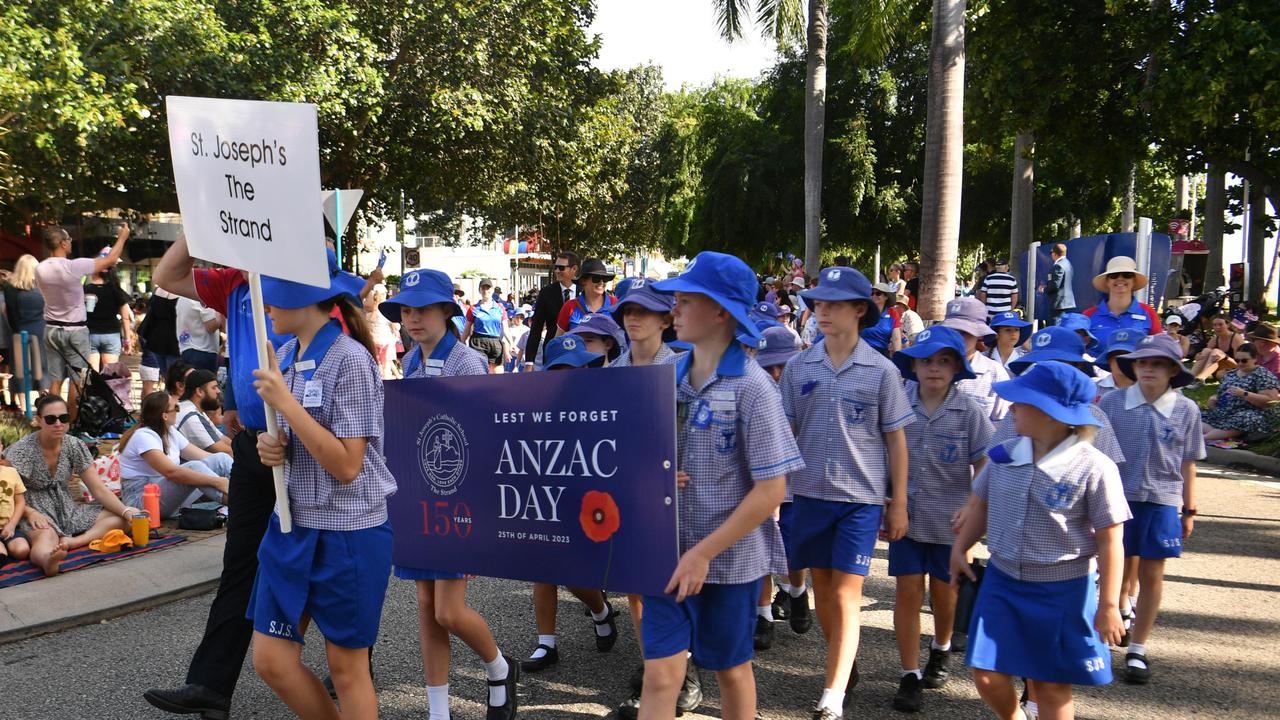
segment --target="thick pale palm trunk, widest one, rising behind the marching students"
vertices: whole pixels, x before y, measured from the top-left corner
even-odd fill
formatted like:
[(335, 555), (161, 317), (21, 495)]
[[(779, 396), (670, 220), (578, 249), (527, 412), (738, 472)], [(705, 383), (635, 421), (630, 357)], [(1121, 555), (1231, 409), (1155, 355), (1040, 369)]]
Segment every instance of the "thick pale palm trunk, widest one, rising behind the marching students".
[(955, 297), (964, 167), (964, 13), (965, 0), (933, 0), (916, 307), (925, 320), (941, 320)]

